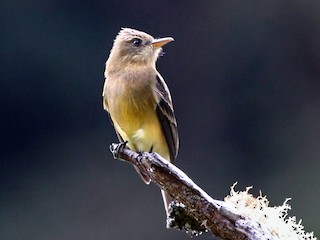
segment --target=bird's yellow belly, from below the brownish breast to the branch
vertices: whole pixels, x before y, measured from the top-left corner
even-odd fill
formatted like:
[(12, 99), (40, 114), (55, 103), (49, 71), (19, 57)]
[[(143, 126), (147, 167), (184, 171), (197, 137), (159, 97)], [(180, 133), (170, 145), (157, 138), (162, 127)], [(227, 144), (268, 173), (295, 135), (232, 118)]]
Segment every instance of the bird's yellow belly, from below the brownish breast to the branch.
[(109, 104), (109, 113), (127, 146), (134, 151), (153, 152), (170, 161), (169, 149), (161, 124), (156, 114), (156, 103), (152, 99), (135, 101), (130, 98), (117, 98)]

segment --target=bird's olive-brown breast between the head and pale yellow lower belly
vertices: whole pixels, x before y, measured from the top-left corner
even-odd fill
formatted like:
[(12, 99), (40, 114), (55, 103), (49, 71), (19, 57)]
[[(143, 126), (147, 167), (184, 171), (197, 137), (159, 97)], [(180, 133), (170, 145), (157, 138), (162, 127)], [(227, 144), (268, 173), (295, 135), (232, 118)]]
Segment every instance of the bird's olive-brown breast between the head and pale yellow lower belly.
[(134, 134), (155, 115), (157, 102), (153, 78), (155, 76), (127, 73), (108, 79), (108, 111), (127, 134)]

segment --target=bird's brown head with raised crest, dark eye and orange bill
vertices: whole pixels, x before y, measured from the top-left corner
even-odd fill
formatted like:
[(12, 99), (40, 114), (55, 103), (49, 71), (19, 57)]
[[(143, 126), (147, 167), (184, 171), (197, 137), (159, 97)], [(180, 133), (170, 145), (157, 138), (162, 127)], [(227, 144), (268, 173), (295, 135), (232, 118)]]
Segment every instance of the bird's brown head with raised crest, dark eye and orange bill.
[(114, 40), (110, 58), (121, 64), (154, 65), (161, 47), (172, 41), (171, 37), (155, 39), (145, 32), (122, 28)]

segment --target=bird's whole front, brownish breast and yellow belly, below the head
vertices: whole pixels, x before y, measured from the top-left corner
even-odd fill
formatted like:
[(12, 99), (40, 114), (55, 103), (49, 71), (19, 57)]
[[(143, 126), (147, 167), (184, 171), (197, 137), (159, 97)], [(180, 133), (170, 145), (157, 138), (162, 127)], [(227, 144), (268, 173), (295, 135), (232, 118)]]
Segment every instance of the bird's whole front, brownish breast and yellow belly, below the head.
[(152, 68), (141, 71), (135, 68), (134, 74), (129, 73), (121, 74), (121, 77), (108, 75), (105, 82), (105, 107), (114, 127), (122, 139), (128, 141), (130, 149), (153, 149), (170, 160), (168, 145), (156, 113), (156, 72)]

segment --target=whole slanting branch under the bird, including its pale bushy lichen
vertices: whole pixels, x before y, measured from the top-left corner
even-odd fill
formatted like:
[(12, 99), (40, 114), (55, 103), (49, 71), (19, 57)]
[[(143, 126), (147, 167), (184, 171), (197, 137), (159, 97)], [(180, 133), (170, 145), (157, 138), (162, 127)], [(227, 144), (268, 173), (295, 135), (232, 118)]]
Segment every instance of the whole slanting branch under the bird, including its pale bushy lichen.
[(269, 207), (266, 197), (253, 197), (250, 187), (235, 191), (235, 185), (224, 201), (215, 200), (157, 153), (136, 153), (123, 143), (112, 144), (110, 151), (114, 158), (135, 165), (173, 198), (169, 227), (185, 228), (191, 235), (210, 231), (229, 240), (316, 240), (313, 233), (304, 231), (301, 221), (288, 217), (288, 200)]

